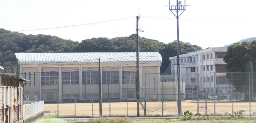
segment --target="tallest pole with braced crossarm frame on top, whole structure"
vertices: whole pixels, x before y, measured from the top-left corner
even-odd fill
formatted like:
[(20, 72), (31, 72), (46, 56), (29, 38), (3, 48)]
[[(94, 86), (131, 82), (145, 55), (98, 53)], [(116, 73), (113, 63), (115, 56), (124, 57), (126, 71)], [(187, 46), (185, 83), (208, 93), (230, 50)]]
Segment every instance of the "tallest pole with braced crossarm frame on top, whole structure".
[[(179, 59), (179, 16), (186, 9), (186, 0), (184, 0), (184, 5), (181, 4), (181, 1), (176, 0), (176, 6), (170, 4), (169, 0), (169, 10), (173, 13), (173, 15), (177, 18), (177, 79), (178, 79), (178, 113), (181, 115), (181, 91), (180, 91), (180, 59)], [(179, 14), (179, 10), (182, 12)], [(173, 11), (176, 11), (176, 15)]]

